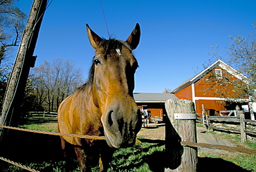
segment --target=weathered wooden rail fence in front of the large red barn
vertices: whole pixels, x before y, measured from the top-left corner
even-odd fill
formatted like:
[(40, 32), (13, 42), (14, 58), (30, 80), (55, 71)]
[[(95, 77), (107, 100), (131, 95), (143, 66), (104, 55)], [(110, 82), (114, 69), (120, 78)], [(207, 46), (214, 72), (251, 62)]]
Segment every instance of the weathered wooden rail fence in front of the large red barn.
[[(246, 142), (247, 140), (247, 134), (250, 135), (256, 135), (256, 131), (249, 128), (255, 128), (256, 127), (256, 121), (255, 120), (245, 120), (244, 114), (239, 111), (239, 108), (236, 108), (235, 112), (236, 116), (208, 116), (203, 115), (201, 118), (203, 120), (203, 124), (206, 126), (206, 128), (218, 130), (218, 131), (227, 131), (227, 132), (235, 132), (235, 133), (241, 133), (241, 142)], [(216, 123), (221, 124), (235, 124), (236, 128), (227, 127), (223, 128), (219, 126), (214, 126)], [(250, 126), (250, 127), (249, 127)]]

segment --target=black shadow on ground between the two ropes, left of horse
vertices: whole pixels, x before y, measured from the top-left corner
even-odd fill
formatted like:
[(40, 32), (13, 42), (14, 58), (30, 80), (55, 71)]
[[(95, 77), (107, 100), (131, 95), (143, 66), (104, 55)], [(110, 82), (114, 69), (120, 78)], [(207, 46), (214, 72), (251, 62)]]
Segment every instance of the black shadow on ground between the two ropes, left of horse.
[(0, 147), (1, 156), (18, 162), (60, 160), (60, 137), (22, 131), (9, 131)]

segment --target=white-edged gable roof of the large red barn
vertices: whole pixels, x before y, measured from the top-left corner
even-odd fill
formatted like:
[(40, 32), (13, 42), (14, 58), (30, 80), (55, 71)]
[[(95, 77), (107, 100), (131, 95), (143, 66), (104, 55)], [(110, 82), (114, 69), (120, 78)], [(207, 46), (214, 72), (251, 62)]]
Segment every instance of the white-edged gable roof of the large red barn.
[(181, 83), (178, 87), (176, 87), (174, 90), (172, 90), (172, 93), (177, 93), (179, 90), (182, 90), (183, 88), (185, 88), (187, 86), (190, 86), (192, 83), (201, 79), (201, 77), (203, 77), (204, 75), (209, 73), (210, 70), (212, 70), (213, 68), (216, 68), (217, 66), (223, 68), (223, 70), (226, 70), (228, 73), (230, 73), (231, 75), (234, 75), (235, 77), (237, 77), (238, 79), (240, 79), (243, 82), (248, 81), (248, 79), (245, 75), (242, 75), (237, 70), (235, 70), (234, 68), (232, 68), (231, 66), (229, 66), (225, 62), (218, 59), (212, 65), (210, 65), (208, 68), (205, 68), (205, 70), (201, 71), (201, 73), (199, 73), (199, 74), (195, 75), (194, 77), (191, 77), (190, 79)]

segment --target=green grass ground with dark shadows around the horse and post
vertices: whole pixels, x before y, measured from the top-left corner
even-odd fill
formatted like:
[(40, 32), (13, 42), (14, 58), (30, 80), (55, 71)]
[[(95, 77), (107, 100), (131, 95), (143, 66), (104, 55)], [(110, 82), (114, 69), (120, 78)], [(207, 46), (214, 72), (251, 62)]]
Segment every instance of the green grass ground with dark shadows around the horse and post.
[[(57, 132), (56, 118), (30, 118), (20, 125), (21, 128), (28, 128), (40, 131)], [(7, 146), (6, 153), (10, 160), (20, 162), (26, 166), (39, 171), (64, 172), (65, 162), (60, 154), (59, 137), (53, 136), (48, 138), (42, 134), (17, 134), (18, 139), (10, 142)], [(34, 137), (35, 135), (35, 137)], [(19, 138), (21, 137), (21, 138)], [(239, 142), (239, 137), (230, 137), (231, 140)], [(139, 138), (143, 140), (143, 138)], [(17, 142), (17, 140), (21, 140)], [(148, 140), (147, 140), (148, 141)], [(19, 143), (17, 145), (17, 143)], [(256, 149), (256, 144), (247, 142), (250, 149)], [(59, 151), (58, 151), (59, 150)], [(11, 153), (10, 153), (11, 151)], [(21, 151), (21, 153), (19, 153)], [(1, 156), (1, 155), (0, 155)], [(32, 156), (32, 157), (31, 157)], [(8, 158), (8, 157), (6, 157)], [(74, 160), (75, 161), (75, 160)], [(198, 171), (253, 171), (256, 172), (256, 155), (239, 154), (239, 155), (211, 155), (203, 153), (199, 157)], [(17, 166), (10, 165), (0, 161), (3, 172), (10, 171), (26, 171)], [(210, 168), (209, 168), (210, 167)], [(225, 168), (226, 167), (226, 168)], [(164, 171), (165, 168), (165, 144), (164, 142), (142, 142), (136, 143), (133, 147), (127, 149), (118, 149), (113, 155), (111, 167), (108, 171)], [(227, 170), (228, 169), (228, 170)], [(74, 172), (80, 171), (78, 166), (74, 167)], [(92, 171), (98, 171), (98, 167), (94, 167)]]

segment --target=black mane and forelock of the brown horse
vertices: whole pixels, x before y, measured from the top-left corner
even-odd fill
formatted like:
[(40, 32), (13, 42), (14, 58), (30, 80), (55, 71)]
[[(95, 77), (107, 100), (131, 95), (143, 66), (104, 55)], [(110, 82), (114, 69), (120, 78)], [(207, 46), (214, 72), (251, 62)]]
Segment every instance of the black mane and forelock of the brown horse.
[[(103, 39), (103, 42), (99, 48), (102, 48), (103, 57), (106, 59), (107, 59), (107, 55), (116, 53), (116, 49), (119, 49), (120, 51), (122, 51), (122, 46), (127, 47), (130, 51), (132, 50), (128, 44), (125, 44), (124, 41), (121, 41), (119, 39), (104, 39), (104, 38), (102, 39)], [(94, 57), (93, 57), (93, 60), (94, 60)], [(83, 90), (87, 86), (93, 85), (94, 68), (95, 68), (94, 61), (92, 61), (87, 82), (80, 88), (77, 88), (77, 90)]]

